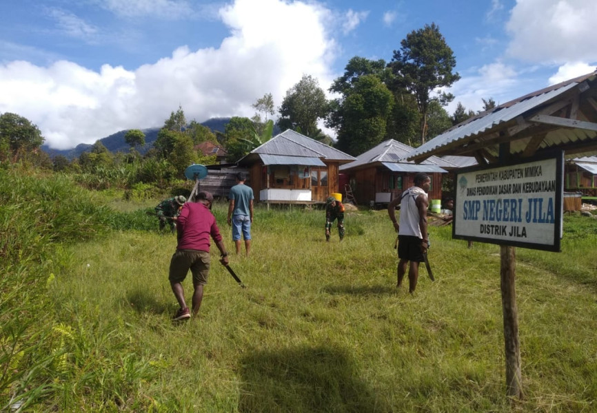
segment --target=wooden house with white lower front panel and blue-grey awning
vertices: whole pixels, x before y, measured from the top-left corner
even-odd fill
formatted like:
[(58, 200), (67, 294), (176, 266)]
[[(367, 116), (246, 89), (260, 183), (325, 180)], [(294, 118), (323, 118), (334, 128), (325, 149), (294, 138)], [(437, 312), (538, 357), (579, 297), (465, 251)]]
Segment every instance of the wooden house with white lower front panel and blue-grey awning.
[(338, 193), (338, 168), (353, 156), (287, 129), (239, 160), (249, 169), (255, 200), (314, 204)]

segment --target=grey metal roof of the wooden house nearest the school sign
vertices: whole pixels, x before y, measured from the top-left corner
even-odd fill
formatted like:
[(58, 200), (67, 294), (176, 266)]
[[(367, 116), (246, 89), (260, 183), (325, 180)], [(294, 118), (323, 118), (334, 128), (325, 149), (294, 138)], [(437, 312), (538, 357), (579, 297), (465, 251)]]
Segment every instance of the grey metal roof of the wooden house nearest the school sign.
[[(399, 163), (399, 164), (412, 164), (414, 162), (412, 160), (407, 160), (407, 156), (414, 151), (413, 147), (409, 147), (402, 142), (398, 142), (394, 139), (388, 139), (380, 144), (372, 147), (368, 151), (361, 153), (361, 155), (356, 157), (354, 162), (350, 162), (345, 165), (341, 165), (341, 171), (345, 171), (347, 169), (354, 169), (359, 167), (367, 167), (375, 163)], [(423, 165), (434, 165), (437, 167), (445, 167), (445, 168), (456, 168), (457, 165), (452, 164), (448, 160), (443, 160), (442, 158), (438, 158), (437, 156), (431, 156), (429, 159), (424, 160), (421, 162)], [(425, 172), (432, 172), (430, 170), (425, 170)], [(444, 171), (445, 172), (445, 171)]]

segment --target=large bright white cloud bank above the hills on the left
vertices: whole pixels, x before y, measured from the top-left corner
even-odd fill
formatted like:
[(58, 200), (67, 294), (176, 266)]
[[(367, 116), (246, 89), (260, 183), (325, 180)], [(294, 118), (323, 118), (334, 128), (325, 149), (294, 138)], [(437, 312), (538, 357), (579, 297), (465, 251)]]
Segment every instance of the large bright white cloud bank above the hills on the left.
[(132, 71), (103, 65), (96, 72), (68, 61), (48, 67), (0, 64), (0, 113), (25, 116), (48, 145), (68, 149), (123, 129), (163, 125), (179, 105), (188, 119), (200, 122), (252, 116), (257, 98), (272, 93), (274, 104), (281, 105), (303, 74), (329, 87), (337, 50), (327, 32), (330, 10), (284, 0), (236, 0), (220, 17), (230, 36), (219, 47), (179, 47)]

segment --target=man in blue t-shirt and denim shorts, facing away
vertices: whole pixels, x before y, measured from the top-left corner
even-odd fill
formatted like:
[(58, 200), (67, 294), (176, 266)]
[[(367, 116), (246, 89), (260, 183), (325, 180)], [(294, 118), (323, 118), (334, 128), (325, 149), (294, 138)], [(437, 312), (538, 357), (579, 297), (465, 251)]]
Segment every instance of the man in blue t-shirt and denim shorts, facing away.
[(241, 252), (241, 232), (245, 240), (247, 257), (251, 251), (251, 224), (253, 222), (253, 189), (245, 185), (245, 174), (236, 173), (236, 185), (228, 195), (228, 225), (232, 225), (232, 240), (236, 245), (236, 254)]

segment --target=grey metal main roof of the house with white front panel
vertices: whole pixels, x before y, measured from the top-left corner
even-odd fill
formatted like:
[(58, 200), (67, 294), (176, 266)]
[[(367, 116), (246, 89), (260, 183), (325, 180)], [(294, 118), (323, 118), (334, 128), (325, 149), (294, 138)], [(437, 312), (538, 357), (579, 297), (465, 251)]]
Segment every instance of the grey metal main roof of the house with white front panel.
[(296, 131), (287, 129), (274, 136), (263, 145), (253, 149), (251, 153), (267, 153), (270, 155), (307, 156), (323, 158), (325, 160), (339, 160), (350, 162), (354, 156), (325, 145)]

